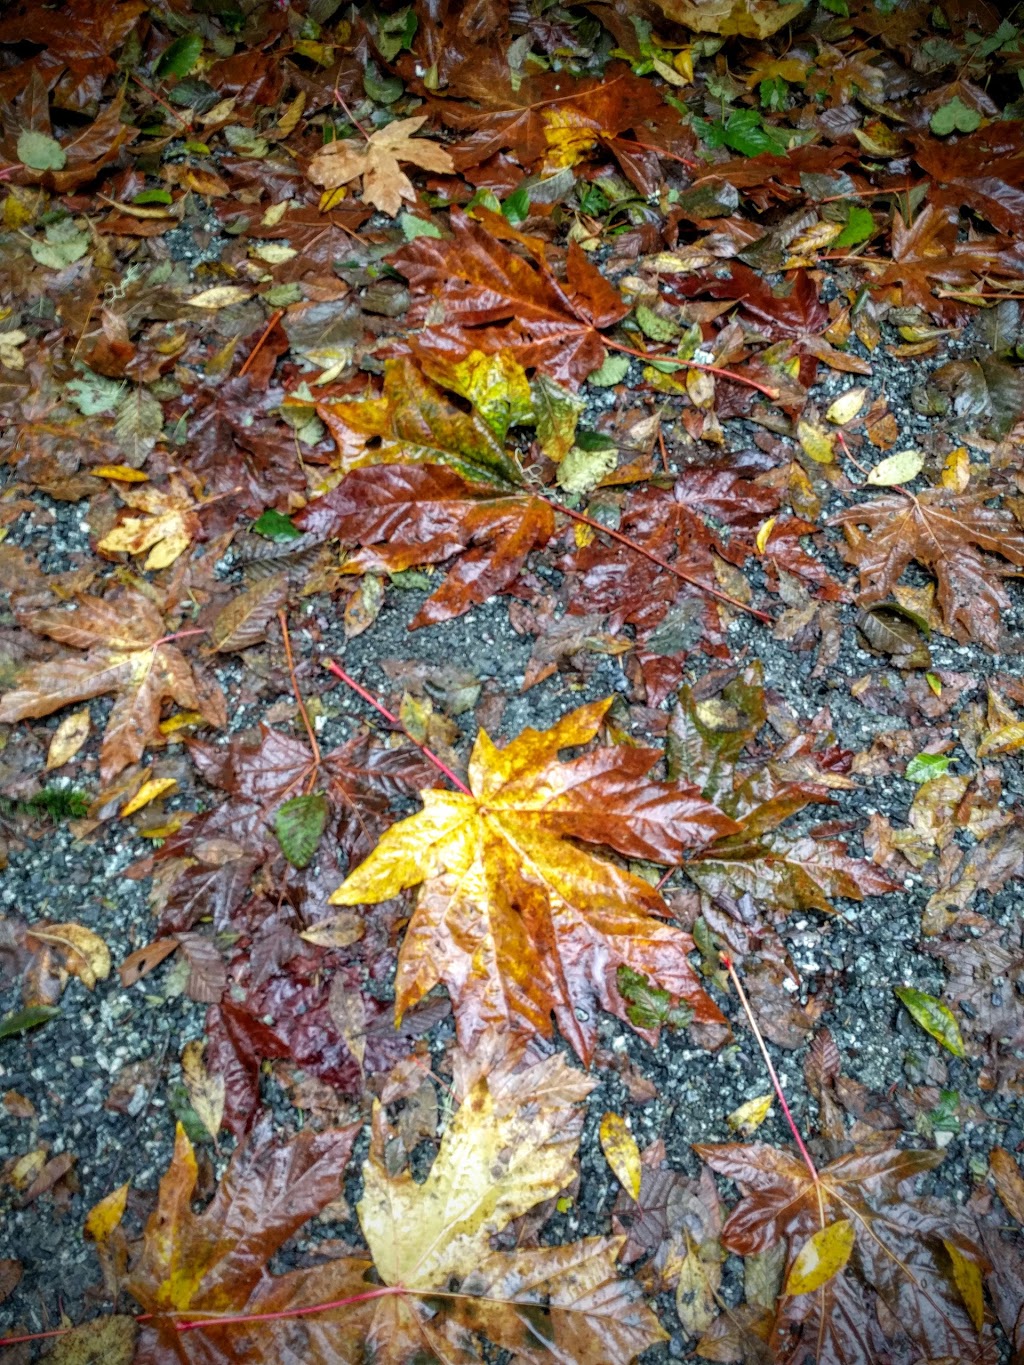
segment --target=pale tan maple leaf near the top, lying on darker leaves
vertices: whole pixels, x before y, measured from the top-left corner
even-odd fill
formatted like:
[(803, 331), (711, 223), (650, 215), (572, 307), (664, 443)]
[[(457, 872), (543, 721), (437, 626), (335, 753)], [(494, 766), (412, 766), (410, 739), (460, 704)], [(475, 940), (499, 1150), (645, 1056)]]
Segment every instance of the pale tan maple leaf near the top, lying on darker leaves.
[(362, 177), (363, 199), (393, 218), (403, 199), (416, 198), (400, 161), (423, 171), (455, 171), (455, 162), (445, 147), (414, 136), (426, 121), (427, 116), (421, 113), (377, 128), (365, 142), (329, 142), (310, 161), (309, 177), (325, 190), (337, 190)]

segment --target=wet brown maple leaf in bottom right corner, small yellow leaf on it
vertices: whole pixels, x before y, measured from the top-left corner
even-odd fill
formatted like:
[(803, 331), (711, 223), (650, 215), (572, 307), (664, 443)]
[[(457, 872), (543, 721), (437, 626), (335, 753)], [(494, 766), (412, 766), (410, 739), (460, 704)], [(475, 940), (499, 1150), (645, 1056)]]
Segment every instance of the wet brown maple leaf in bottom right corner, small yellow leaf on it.
[(853, 1226), (845, 1269), (780, 1299), (770, 1342), (776, 1360), (870, 1365), (885, 1358), (887, 1331), (908, 1339), (915, 1358), (994, 1361), (991, 1330), (972, 1321), (986, 1268), (973, 1219), (913, 1193), (918, 1177), (934, 1170), (942, 1152), (901, 1151), (892, 1134), (878, 1134), (874, 1145), (819, 1170), (816, 1188), (799, 1156), (762, 1143), (695, 1151), (743, 1190), (722, 1230), (730, 1252), (751, 1256), (789, 1238), (792, 1265), (822, 1226), (840, 1219)]

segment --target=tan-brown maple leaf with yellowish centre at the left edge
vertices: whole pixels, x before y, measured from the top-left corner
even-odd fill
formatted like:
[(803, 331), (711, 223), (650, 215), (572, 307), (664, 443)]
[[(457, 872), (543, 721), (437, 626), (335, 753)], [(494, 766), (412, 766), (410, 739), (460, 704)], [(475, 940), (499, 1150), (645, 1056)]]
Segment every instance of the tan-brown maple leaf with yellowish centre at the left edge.
[(37, 635), (87, 652), (29, 665), (18, 687), (0, 699), (0, 721), (51, 715), (71, 702), (115, 692), (100, 749), (104, 781), (139, 759), (146, 744), (158, 737), (165, 700), (201, 711), (210, 725), (227, 721), (220, 688), (197, 677), (167, 639), (164, 617), (141, 592), (83, 595), (74, 610), (35, 612), (25, 624)]

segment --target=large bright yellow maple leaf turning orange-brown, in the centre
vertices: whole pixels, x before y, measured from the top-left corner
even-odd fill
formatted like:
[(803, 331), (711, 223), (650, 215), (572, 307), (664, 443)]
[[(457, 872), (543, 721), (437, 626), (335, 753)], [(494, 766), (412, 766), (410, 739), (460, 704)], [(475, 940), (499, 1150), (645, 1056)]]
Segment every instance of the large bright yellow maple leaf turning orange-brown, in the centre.
[(737, 829), (695, 788), (649, 778), (655, 749), (602, 747), (560, 762), (560, 749), (595, 737), (610, 704), (524, 730), (504, 749), (481, 733), (472, 794), (425, 792), (423, 809), (388, 830), (330, 897), (358, 905), (423, 883), (399, 957), (399, 1017), (444, 983), (464, 1047), (494, 1031), (549, 1035), (554, 1014), (587, 1061), (598, 1006), (628, 1018), (616, 973), (629, 966), (681, 996), (698, 1021), (722, 1022), (687, 961), (689, 935), (658, 919), (661, 897), (568, 842), (676, 863)]

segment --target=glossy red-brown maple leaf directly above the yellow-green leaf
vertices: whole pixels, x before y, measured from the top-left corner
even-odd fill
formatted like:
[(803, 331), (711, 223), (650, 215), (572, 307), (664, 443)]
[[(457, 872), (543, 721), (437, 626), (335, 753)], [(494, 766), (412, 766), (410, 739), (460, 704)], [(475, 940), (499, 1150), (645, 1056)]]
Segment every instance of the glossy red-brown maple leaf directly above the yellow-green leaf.
[[(620, 322), (629, 304), (575, 242), (561, 284), (546, 266), (543, 243), (526, 239), (537, 257), (531, 263), (464, 213), (452, 210), (451, 225), (451, 239), (416, 238), (390, 258), (414, 291), (408, 326), (416, 349), (511, 351), (523, 369), (539, 367), (565, 384), (598, 369), (601, 330)], [(433, 321), (438, 311), (442, 322)]]

